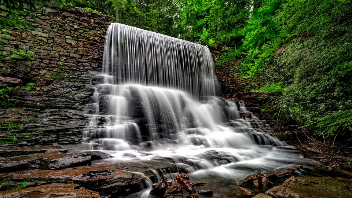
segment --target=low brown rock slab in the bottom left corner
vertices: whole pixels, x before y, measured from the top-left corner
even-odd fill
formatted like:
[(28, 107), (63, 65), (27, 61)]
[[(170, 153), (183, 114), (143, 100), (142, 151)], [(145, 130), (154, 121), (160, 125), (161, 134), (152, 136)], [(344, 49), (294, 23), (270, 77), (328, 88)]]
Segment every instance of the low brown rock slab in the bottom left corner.
[(0, 191), (0, 197), (35, 197), (35, 198), (99, 198), (98, 192), (78, 188), (78, 184), (46, 184), (42, 186), (29, 187), (23, 190)]

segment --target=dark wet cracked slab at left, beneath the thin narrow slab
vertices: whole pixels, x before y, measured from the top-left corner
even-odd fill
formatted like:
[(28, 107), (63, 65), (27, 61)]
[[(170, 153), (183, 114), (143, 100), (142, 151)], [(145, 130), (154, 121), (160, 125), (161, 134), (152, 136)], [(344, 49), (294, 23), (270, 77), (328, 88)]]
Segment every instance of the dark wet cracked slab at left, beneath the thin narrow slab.
[(51, 152), (37, 155), (23, 155), (0, 159), (0, 172), (14, 172), (28, 169), (59, 169), (71, 166), (90, 165), (89, 152), (69, 153)]

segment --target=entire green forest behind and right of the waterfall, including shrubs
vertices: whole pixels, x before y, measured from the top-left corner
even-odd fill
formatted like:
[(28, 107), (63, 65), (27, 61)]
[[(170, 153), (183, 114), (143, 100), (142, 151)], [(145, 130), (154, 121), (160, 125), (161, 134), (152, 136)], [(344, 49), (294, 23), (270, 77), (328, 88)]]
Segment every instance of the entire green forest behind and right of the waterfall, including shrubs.
[[(1, 0), (11, 16), (0, 26), (25, 26), (21, 9), (71, 5), (114, 22), (229, 48), (241, 73), (269, 79), (254, 89), (272, 95), (263, 112), (301, 125), (325, 146), (352, 140), (351, 0)], [(0, 90), (1, 95), (11, 90)]]

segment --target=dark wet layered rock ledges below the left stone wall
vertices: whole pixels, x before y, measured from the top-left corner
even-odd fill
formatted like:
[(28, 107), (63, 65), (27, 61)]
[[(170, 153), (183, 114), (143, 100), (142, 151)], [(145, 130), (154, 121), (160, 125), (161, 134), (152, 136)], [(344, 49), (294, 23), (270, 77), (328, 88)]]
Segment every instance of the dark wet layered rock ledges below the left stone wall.
[[(54, 103), (53, 101), (44, 100), (44, 98), (39, 101), (36, 101), (37, 98), (33, 97), (26, 98), (28, 98), (27, 102), (17, 100), (17, 103), (27, 105), (38, 103), (43, 106), (48, 103)], [(58, 101), (55, 105), (61, 104), (63, 107), (68, 105), (68, 103), (61, 102)], [(83, 112), (68, 109), (23, 108), (0, 110), (0, 118), (2, 118), (3, 122), (23, 123), (21, 131), (13, 131), (16, 133), (15, 136), (21, 140), (15, 144), (4, 145), (0, 143), (0, 148), (77, 144), (80, 143), (82, 132), (88, 122)]]

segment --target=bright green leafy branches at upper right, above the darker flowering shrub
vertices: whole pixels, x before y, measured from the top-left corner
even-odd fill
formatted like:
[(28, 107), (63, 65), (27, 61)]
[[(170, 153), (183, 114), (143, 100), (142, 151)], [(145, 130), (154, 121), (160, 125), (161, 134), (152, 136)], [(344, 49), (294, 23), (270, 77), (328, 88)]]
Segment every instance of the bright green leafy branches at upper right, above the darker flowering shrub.
[(268, 67), (276, 50), (293, 38), (302, 40), (318, 31), (328, 32), (330, 24), (343, 24), (341, 17), (348, 17), (345, 11), (350, 7), (345, 0), (262, 0), (239, 32), (245, 38), (237, 54), (247, 52), (243, 72), (254, 76)]

